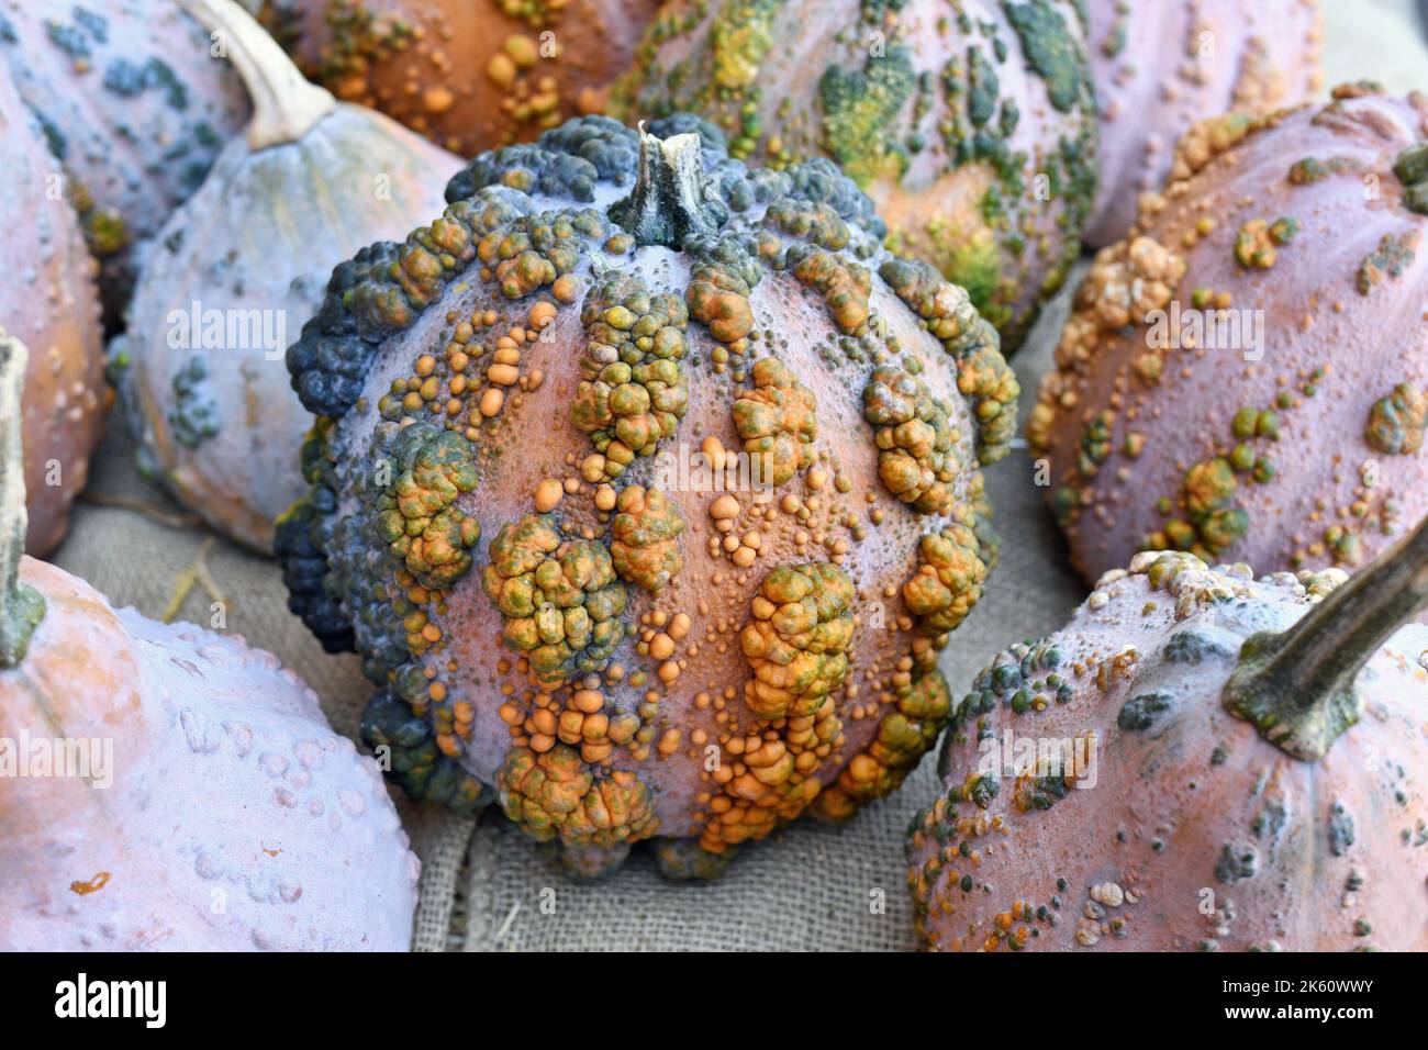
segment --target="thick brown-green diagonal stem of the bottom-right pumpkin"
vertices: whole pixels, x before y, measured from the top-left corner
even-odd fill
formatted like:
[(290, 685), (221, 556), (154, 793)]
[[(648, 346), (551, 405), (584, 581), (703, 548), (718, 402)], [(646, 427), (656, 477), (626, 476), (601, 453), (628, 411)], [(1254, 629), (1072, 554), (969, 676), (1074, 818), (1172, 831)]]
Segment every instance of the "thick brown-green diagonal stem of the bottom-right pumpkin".
[(1225, 707), (1295, 759), (1322, 759), (1355, 721), (1354, 679), (1428, 606), (1428, 521), (1331, 591), (1297, 624), (1245, 639)]

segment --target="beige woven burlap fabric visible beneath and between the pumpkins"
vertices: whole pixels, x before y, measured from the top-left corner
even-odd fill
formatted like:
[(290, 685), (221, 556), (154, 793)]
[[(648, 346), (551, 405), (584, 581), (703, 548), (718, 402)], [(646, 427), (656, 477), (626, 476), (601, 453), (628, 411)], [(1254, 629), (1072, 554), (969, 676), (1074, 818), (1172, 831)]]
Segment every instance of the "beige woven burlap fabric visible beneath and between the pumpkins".
[[(1428, 49), (1411, 0), (1322, 0), (1328, 83), (1372, 77), (1392, 90), (1428, 90)], [(1074, 286), (1074, 281), (1072, 281)], [(1034, 391), (1051, 360), (1067, 294), (1052, 304), (1017, 356)], [(1031, 404), (1024, 397), (1022, 411)], [(133, 464), (133, 443), (113, 426), (54, 561), (110, 597), (161, 616), (176, 584), (203, 554), (224, 600), (226, 630), (276, 653), (317, 690), (333, 724), (356, 736), (370, 696), (353, 656), (327, 656), (287, 611), (273, 561), (214, 539)], [(955, 694), (1005, 644), (1060, 627), (1084, 589), (1064, 566), (1064, 547), (1032, 484), (1032, 467), (1012, 453), (988, 471), (1001, 534), (1001, 566), (952, 636), (942, 670)], [(210, 623), (213, 599), (196, 584), (178, 616)], [(843, 826), (811, 820), (745, 849), (723, 880), (671, 884), (647, 856), (581, 886), (550, 854), (488, 810), (477, 823), (398, 800), (421, 856), (418, 951), (661, 949), (661, 950), (902, 950), (914, 947), (902, 863), (902, 831), (937, 790), (927, 760), (902, 791)]]

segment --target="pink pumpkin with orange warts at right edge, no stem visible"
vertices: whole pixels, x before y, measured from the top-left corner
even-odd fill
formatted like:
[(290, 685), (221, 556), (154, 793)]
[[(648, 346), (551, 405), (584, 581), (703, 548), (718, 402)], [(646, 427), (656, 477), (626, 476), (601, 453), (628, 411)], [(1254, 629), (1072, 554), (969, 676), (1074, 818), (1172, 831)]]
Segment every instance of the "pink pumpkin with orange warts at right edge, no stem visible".
[(1028, 423), (1072, 561), (1352, 569), (1428, 513), (1428, 97), (1344, 86), (1178, 157)]

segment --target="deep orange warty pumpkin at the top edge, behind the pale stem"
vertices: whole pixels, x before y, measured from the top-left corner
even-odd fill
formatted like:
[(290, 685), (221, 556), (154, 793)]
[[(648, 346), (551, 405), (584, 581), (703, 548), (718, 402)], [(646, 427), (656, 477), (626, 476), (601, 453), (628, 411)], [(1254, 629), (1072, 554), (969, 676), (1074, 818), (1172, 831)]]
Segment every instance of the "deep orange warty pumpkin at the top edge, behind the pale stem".
[(448, 150), (528, 141), (604, 109), (657, 0), (263, 0), (260, 20), (346, 101)]

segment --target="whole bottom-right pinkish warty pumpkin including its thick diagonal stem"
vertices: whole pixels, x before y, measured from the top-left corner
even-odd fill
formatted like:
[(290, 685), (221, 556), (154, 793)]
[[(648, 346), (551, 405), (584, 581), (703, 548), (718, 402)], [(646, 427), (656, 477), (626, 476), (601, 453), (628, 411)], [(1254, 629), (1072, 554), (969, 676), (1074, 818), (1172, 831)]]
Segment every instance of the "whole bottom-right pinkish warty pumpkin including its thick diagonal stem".
[(1424, 604), (1428, 524), (1354, 577), (1102, 576), (958, 709), (908, 830), (927, 946), (1428, 950)]

